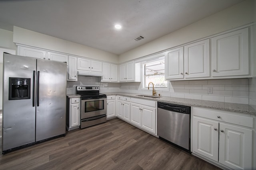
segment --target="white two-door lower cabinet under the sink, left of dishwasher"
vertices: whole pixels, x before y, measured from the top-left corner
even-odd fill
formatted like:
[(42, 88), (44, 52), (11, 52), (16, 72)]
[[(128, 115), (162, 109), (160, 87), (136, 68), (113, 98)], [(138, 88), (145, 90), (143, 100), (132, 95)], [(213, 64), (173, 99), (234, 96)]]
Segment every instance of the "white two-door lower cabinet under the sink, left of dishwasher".
[(131, 98), (131, 123), (156, 135), (156, 102)]

